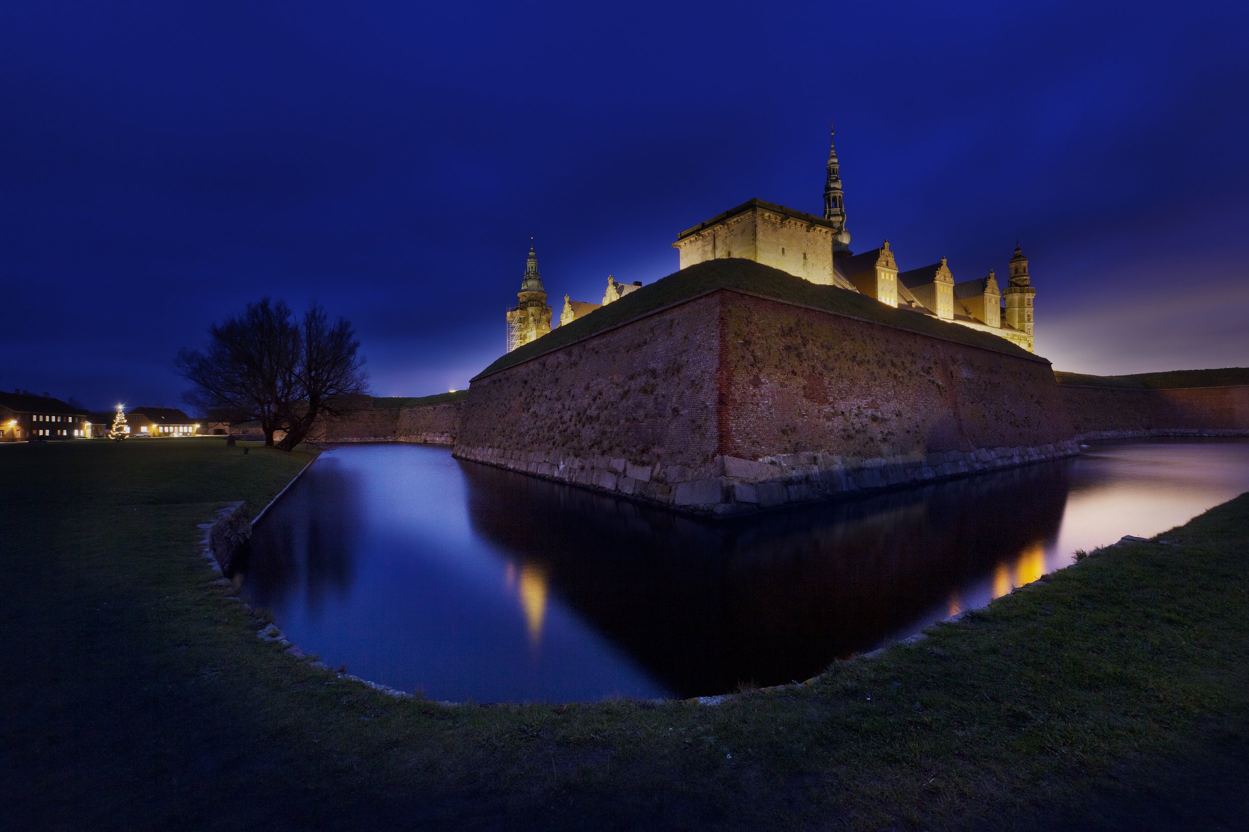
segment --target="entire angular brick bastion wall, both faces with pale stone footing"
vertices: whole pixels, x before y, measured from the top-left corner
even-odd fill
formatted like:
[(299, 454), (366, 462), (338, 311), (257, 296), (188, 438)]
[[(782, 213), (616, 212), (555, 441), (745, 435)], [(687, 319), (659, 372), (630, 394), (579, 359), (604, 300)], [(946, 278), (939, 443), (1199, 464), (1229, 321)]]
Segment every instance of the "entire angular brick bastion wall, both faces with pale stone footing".
[(456, 457), (732, 516), (1075, 453), (1048, 362), (719, 291), (475, 379)]

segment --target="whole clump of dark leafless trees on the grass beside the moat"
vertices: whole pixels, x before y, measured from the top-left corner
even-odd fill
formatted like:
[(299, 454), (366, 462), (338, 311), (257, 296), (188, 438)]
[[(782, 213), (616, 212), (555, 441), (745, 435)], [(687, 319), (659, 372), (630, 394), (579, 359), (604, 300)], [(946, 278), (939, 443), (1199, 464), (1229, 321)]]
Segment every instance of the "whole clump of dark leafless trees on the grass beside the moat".
[(363, 393), (367, 375), (360, 342), (343, 318), (331, 324), (313, 303), (296, 322), (282, 301), (249, 303), (247, 311), (209, 329), (209, 346), (182, 349), (174, 362), (194, 384), (190, 404), (229, 414), (232, 423), (259, 420), (265, 444), (297, 445), (321, 414), (337, 415), (333, 397)]

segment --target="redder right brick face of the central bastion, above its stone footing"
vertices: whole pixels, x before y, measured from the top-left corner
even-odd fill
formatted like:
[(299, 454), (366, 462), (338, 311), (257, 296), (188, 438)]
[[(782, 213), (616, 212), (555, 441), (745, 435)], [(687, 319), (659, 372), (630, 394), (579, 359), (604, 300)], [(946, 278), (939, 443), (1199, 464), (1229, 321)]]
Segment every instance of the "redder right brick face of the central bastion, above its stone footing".
[(727, 455), (869, 459), (1072, 437), (1048, 362), (763, 298), (724, 298)]

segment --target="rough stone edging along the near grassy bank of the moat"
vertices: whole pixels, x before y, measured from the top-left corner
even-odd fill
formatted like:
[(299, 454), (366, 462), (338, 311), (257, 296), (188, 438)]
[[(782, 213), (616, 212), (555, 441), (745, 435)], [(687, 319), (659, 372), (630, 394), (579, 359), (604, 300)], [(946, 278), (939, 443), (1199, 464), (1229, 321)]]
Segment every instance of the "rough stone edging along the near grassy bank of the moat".
[[(311, 464), (312, 463), (309, 463), (309, 465), (311, 465)], [(300, 472), (300, 474), (302, 474), (306, 470), (307, 470), (307, 465), (304, 467), (304, 469)], [(295, 479), (299, 479), (300, 474), (297, 474)], [(294, 481), (295, 480), (292, 479), (291, 483), (294, 483)], [(290, 488), (290, 484), (287, 484), (286, 488)], [(282, 491), (279, 493), (279, 496), (281, 496), (285, 491), (286, 491), (286, 489), (282, 489)], [(276, 499), (277, 498), (274, 498), (275, 501), (276, 501)], [(272, 504), (274, 504), (274, 501), (270, 501), (270, 504), (265, 506), (265, 510), (267, 510), (269, 506), (271, 506)], [(264, 510), (261, 511), (261, 514), (264, 514)], [(260, 515), (257, 515), (257, 519), (259, 518), (260, 518)], [(209, 566), (216, 574), (216, 578), (211, 581), (211, 584), (214, 586), (221, 586), (222, 589), (225, 589), (226, 590), (226, 599), (227, 600), (239, 601), (240, 604), (242, 604), (244, 611), (251, 612), (252, 611), (251, 605), (247, 604), (246, 601), (244, 601), (241, 597), (239, 597), (235, 594), (234, 583), (225, 576), (225, 571), (224, 571), (224, 570), (229, 569), (230, 563), (232, 561), (234, 556), (237, 554), (237, 551), (244, 545), (247, 544), (247, 541), (251, 538), (251, 520), (247, 519), (246, 506), (244, 505), (242, 501), (230, 503), (225, 508), (217, 510), (217, 519), (215, 521), (212, 521), (212, 523), (201, 523), (199, 525), (199, 528), (204, 530), (204, 538), (201, 540), (202, 549), (200, 550), (200, 554), (204, 556), (205, 560), (209, 561)], [(1097, 553), (1104, 551), (1107, 549), (1113, 549), (1115, 546), (1122, 546), (1125, 543), (1154, 543), (1154, 544), (1158, 544), (1158, 545), (1169, 545), (1168, 541), (1165, 541), (1165, 540), (1152, 540), (1149, 538), (1137, 538), (1137, 536), (1133, 536), (1133, 535), (1124, 535), (1118, 543), (1110, 544), (1109, 546), (1102, 546), (1099, 549), (1094, 549), (1093, 551), (1089, 553), (1089, 556), (1095, 555)], [(1080, 563), (1083, 563), (1083, 560), (1077, 560), (1070, 566), (1078, 566)], [(1070, 569), (1070, 566), (1064, 566), (1064, 569)], [(1050, 574), (1053, 574), (1053, 573), (1050, 573)], [(1032, 590), (1032, 589), (1035, 588), (1037, 583), (1039, 583), (1040, 580), (1044, 580), (1045, 578), (1047, 578), (1045, 575), (1042, 575), (1040, 579), (1038, 579), (1038, 581), (1033, 581), (1030, 584), (1024, 584), (1023, 586), (1017, 586), (1013, 590), (1010, 590), (1010, 593), (1008, 593), (1007, 595), (1003, 595), (1002, 597), (1007, 597), (1008, 595), (1013, 595), (1013, 594), (1019, 593), (1019, 591)], [(998, 599), (994, 599), (993, 601), (989, 601), (989, 605), (994, 604), (997, 600)], [(924, 627), (924, 630), (922, 630), (921, 632), (916, 632), (914, 635), (907, 636), (906, 639), (902, 639), (899, 641), (896, 641), (896, 642), (892, 642), (892, 644), (887, 644), (883, 647), (877, 647), (876, 650), (872, 650), (871, 652), (859, 654), (857, 657), (858, 659), (873, 659), (873, 657), (879, 656), (881, 654), (883, 654), (886, 650), (889, 650), (891, 647), (894, 647), (897, 645), (914, 644), (916, 641), (922, 641), (923, 639), (928, 637), (928, 630), (929, 629), (932, 629), (934, 626), (938, 626), (938, 625), (942, 625), (942, 624), (953, 624), (953, 622), (959, 621), (960, 619), (968, 616), (972, 612), (979, 611), (980, 609), (985, 609), (985, 607), (977, 607), (975, 610), (963, 610), (962, 612), (958, 612), (958, 614), (952, 615), (949, 617), (942, 619), (940, 621), (937, 621), (937, 622), (929, 625), (928, 627)], [(259, 619), (257, 619), (257, 621), (259, 621)], [(337, 676), (338, 679), (346, 679), (346, 680), (350, 680), (350, 681), (353, 681), (353, 682), (360, 682), (361, 685), (365, 685), (366, 687), (371, 687), (372, 690), (378, 691), (381, 694), (386, 694), (387, 696), (393, 696), (393, 697), (397, 697), (397, 699), (415, 699), (413, 694), (408, 694), (408, 692), (405, 692), (405, 691), (401, 691), (401, 690), (396, 690), (393, 687), (387, 687), (386, 685), (381, 685), (378, 682), (373, 682), (373, 681), (370, 681), (367, 679), (361, 679), (360, 676), (353, 676), (353, 675), (347, 674), (347, 672), (332, 671), (330, 669), (330, 666), (326, 665), (323, 661), (320, 661), (315, 656), (313, 657), (307, 656), (302, 650), (299, 649), (297, 645), (292, 644), (282, 634), (282, 631), (277, 627), (277, 625), (272, 624), (271, 621), (267, 622), (264, 627), (261, 627), (256, 632), (256, 637), (260, 639), (261, 641), (277, 642), (280, 646), (285, 647), (282, 652), (285, 652), (286, 655), (291, 656), (292, 659), (296, 659), (296, 660), (300, 660), (300, 661), (307, 661), (310, 664), (310, 666), (312, 666), (312, 667), (316, 667), (318, 670), (325, 670), (325, 671), (328, 671), (328, 672), (333, 672), (335, 676)], [(793, 689), (793, 687), (801, 687), (802, 685), (809, 685), (811, 682), (816, 681), (817, 679), (819, 679), (819, 676), (813, 676), (812, 679), (808, 679), (804, 682), (793, 681), (793, 682), (791, 682), (788, 685), (772, 685), (769, 687), (761, 687), (758, 690), (744, 692), (744, 694), (718, 694), (718, 695), (712, 695), (712, 696), (694, 696), (694, 697), (688, 699), (688, 700), (662, 700), (661, 699), (661, 700), (652, 700), (652, 701), (654, 701), (654, 702), (679, 702), (679, 701), (686, 701), (686, 702), (696, 702), (698, 705), (722, 705), (723, 702), (731, 702), (733, 700), (743, 699), (743, 697), (757, 695), (757, 694), (766, 694), (766, 692), (769, 692), (769, 691), (781, 691), (781, 690), (787, 690), (787, 689)], [(442, 706), (446, 706), (446, 707), (458, 707), (460, 705), (462, 705), (462, 702), (438, 701), (437, 705), (442, 705)]]

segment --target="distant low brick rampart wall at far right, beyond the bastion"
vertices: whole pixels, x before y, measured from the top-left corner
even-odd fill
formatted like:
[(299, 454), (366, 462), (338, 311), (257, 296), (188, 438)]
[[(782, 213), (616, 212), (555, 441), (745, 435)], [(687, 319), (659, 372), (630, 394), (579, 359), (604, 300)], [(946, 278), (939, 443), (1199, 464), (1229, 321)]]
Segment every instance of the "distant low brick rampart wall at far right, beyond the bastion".
[(1059, 387), (1078, 439), (1249, 435), (1249, 387)]

